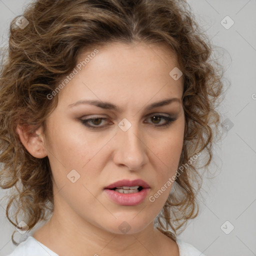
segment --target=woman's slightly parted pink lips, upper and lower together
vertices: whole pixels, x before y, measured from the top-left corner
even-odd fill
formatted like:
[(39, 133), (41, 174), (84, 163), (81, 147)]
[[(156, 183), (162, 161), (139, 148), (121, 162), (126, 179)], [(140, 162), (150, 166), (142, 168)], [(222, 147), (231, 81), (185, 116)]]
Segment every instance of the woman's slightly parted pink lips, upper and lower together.
[[(114, 188), (117, 186), (142, 186), (143, 189), (136, 193), (129, 193), (129, 194), (119, 193), (115, 190), (111, 190), (111, 188)], [(141, 203), (145, 199), (149, 190), (150, 190), (149, 184), (142, 179), (135, 179), (135, 180), (122, 179), (104, 188), (104, 192), (112, 201), (125, 206), (132, 206), (132, 205), (137, 205)]]

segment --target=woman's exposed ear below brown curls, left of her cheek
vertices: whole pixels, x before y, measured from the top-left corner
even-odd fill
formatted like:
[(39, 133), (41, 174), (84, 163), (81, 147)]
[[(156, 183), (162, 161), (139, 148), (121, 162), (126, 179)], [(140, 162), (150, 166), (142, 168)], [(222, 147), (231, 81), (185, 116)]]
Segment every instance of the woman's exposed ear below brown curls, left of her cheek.
[(19, 139), (27, 151), (36, 158), (43, 158), (47, 155), (46, 148), (41, 135), (42, 127), (40, 126), (32, 136), (29, 136), (26, 130), (19, 124), (16, 127)]

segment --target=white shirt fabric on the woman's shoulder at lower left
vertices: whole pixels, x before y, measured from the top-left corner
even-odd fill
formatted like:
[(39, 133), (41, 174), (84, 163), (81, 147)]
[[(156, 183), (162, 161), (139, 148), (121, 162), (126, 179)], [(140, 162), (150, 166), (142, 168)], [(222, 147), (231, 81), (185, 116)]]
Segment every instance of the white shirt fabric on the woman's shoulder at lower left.
[(28, 236), (17, 247), (6, 256), (58, 256), (48, 247), (35, 240), (32, 236)]

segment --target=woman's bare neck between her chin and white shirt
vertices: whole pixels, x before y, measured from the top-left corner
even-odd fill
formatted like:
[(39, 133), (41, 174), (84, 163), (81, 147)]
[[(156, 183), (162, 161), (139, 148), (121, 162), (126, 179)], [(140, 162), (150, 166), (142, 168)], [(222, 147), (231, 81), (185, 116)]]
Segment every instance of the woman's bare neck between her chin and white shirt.
[(136, 233), (113, 233), (86, 221), (64, 201), (54, 203), (51, 218), (32, 236), (61, 256), (178, 255), (177, 244), (154, 228), (153, 221)]

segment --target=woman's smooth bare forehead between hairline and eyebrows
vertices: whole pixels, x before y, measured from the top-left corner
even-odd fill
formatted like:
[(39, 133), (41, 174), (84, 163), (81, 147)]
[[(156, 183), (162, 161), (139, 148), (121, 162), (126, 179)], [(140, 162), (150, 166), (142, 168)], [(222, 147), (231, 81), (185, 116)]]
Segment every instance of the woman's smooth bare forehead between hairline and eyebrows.
[[(59, 94), (67, 104), (79, 99), (142, 103), (154, 97), (181, 97), (182, 76), (174, 80), (170, 71), (178, 66), (175, 54), (165, 44), (110, 43), (81, 52), (80, 70)], [(86, 61), (85, 61), (86, 59)], [(83, 63), (83, 64), (82, 64)], [(77, 66), (76, 65), (76, 66)], [(136, 100), (137, 99), (137, 100)]]

